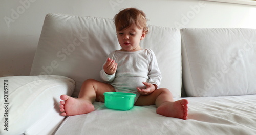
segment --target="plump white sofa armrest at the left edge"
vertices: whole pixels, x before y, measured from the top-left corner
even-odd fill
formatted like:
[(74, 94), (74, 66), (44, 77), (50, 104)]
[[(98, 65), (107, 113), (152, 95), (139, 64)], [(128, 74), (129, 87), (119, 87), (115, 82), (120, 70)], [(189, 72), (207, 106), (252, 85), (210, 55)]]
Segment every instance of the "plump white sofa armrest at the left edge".
[(59, 97), (75, 88), (74, 80), (56, 75), (1, 77), (0, 82), (1, 134), (53, 133), (64, 118)]

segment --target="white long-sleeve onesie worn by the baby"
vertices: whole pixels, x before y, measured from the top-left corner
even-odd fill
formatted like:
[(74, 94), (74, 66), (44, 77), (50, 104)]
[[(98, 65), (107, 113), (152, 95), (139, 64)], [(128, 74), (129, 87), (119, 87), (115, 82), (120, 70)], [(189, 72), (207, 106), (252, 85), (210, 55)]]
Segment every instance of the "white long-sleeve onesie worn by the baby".
[(102, 69), (100, 77), (110, 83), (116, 91), (138, 93), (137, 87), (146, 88), (142, 84), (143, 81), (156, 84), (159, 88), (162, 77), (152, 50), (142, 49), (135, 52), (115, 50), (108, 57), (118, 63), (117, 71), (113, 75), (108, 75)]

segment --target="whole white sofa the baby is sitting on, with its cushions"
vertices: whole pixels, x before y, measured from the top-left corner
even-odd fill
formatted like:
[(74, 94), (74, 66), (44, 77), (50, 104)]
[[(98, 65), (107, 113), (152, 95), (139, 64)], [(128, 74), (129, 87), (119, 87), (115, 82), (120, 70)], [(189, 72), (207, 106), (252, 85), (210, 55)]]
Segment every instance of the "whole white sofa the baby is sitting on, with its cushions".
[(160, 87), (188, 99), (187, 120), (158, 115), (154, 105), (119, 111), (100, 102), (92, 113), (61, 116), (59, 96), (77, 97), (84, 80), (100, 80), (120, 47), (112, 19), (47, 14), (30, 76), (0, 78), (0, 134), (256, 134), (255, 29), (149, 29), (141, 46), (156, 54)]

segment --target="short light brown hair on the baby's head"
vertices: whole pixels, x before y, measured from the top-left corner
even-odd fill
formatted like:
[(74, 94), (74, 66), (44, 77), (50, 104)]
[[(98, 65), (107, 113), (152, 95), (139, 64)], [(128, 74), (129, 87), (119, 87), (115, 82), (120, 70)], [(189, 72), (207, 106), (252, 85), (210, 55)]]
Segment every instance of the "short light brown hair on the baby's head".
[(115, 15), (113, 21), (117, 31), (125, 30), (135, 23), (140, 29), (143, 29), (146, 33), (148, 32), (146, 14), (136, 8), (121, 10)]

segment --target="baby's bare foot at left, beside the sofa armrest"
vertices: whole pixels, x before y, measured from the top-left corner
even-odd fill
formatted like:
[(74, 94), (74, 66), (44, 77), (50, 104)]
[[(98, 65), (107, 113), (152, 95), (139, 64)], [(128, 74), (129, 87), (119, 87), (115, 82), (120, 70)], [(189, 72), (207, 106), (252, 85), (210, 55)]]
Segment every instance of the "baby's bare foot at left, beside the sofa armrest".
[(61, 95), (60, 99), (64, 100), (59, 102), (62, 116), (80, 115), (94, 111), (94, 106), (87, 100), (72, 98), (68, 95)]

